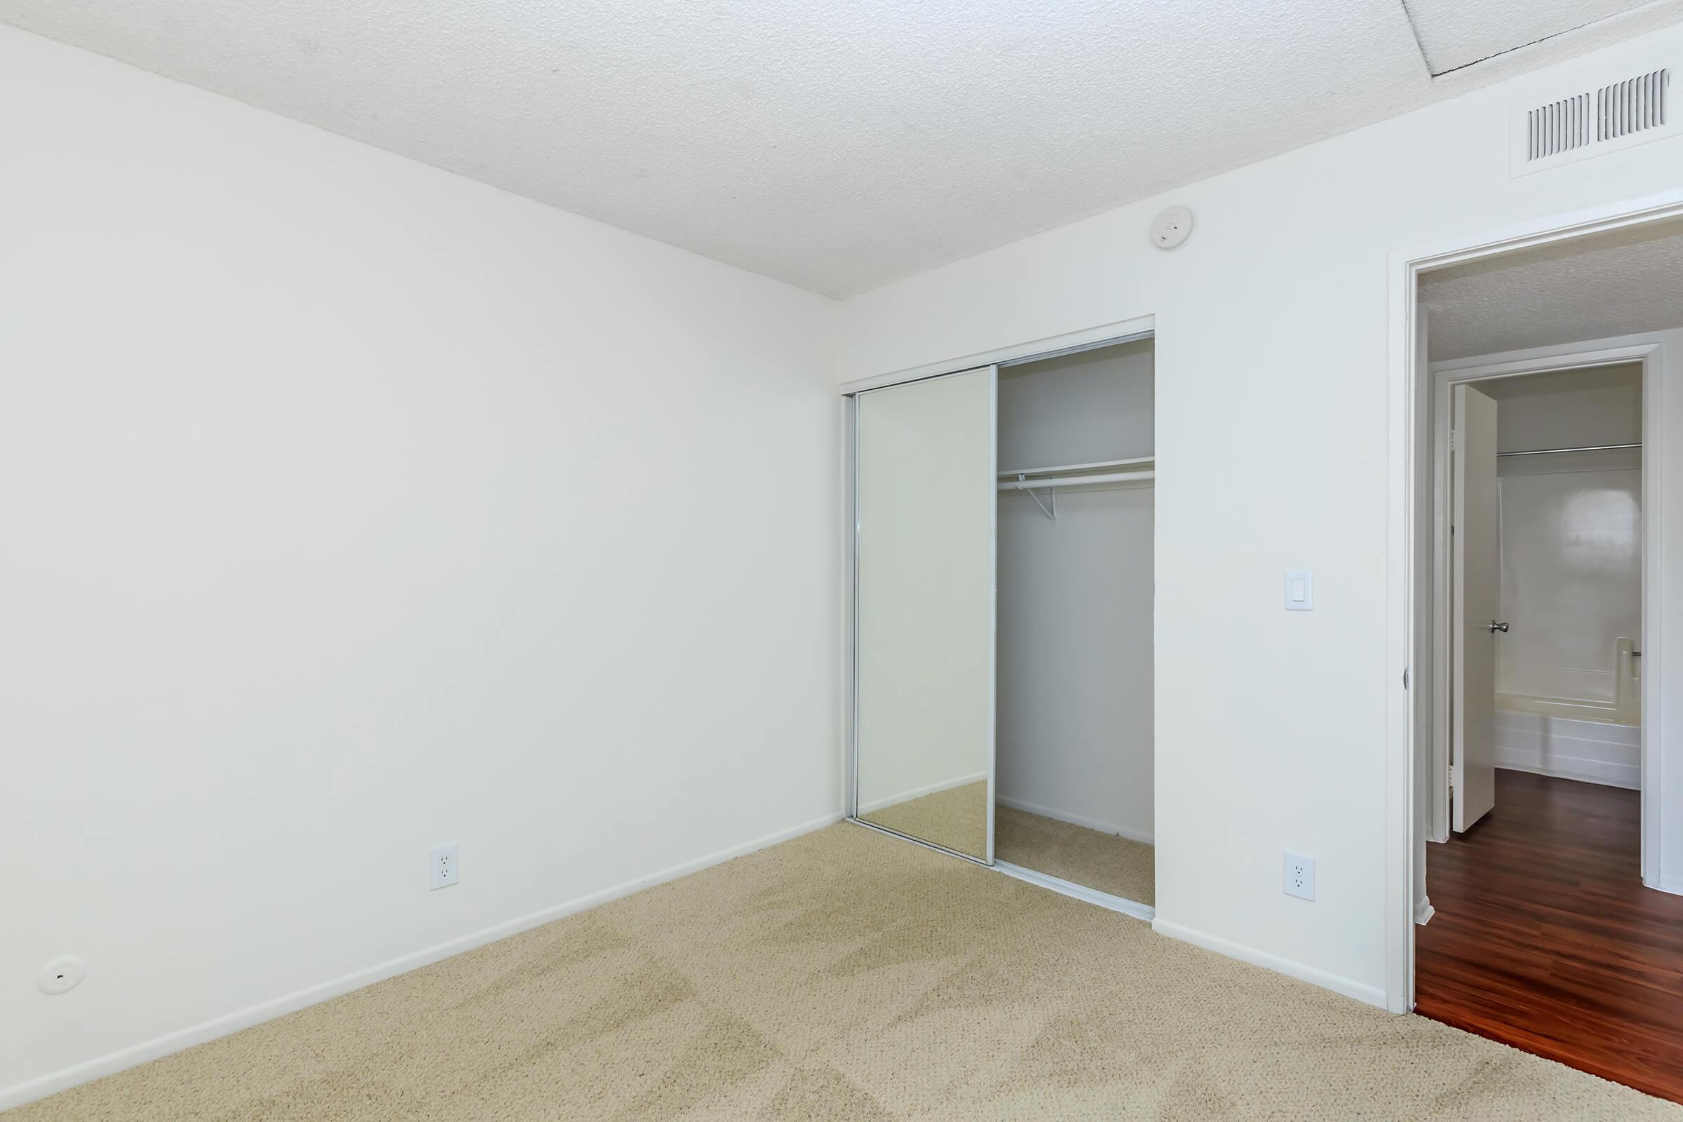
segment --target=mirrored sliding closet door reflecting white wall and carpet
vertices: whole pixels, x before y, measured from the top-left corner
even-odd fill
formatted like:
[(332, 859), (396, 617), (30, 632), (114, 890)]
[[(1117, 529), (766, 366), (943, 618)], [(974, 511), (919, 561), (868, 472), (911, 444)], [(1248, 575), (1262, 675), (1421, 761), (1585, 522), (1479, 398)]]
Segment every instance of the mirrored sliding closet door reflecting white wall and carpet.
[(993, 367), (855, 399), (855, 814), (993, 861)]

